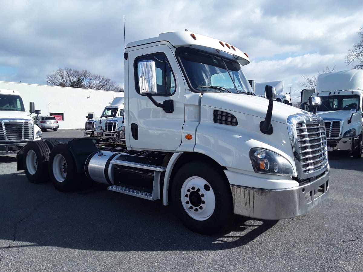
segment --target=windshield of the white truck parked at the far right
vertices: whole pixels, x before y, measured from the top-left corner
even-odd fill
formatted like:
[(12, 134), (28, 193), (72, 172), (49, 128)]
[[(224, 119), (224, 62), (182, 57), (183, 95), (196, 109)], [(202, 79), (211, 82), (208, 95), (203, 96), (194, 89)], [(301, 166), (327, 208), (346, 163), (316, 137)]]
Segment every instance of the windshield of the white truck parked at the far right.
[[(352, 109), (360, 110), (359, 95), (334, 95), (334, 96), (319, 96), (321, 106), (317, 111), (349, 111)], [(313, 107), (309, 107), (309, 111), (313, 112)]]

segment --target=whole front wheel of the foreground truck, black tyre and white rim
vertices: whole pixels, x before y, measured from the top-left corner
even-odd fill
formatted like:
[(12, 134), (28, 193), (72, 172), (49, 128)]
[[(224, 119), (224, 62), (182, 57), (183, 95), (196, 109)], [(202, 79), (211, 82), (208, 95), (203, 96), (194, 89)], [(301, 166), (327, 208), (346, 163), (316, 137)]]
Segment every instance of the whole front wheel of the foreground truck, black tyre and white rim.
[(175, 174), (173, 205), (192, 231), (211, 235), (232, 218), (232, 194), (222, 170), (204, 162), (189, 162)]

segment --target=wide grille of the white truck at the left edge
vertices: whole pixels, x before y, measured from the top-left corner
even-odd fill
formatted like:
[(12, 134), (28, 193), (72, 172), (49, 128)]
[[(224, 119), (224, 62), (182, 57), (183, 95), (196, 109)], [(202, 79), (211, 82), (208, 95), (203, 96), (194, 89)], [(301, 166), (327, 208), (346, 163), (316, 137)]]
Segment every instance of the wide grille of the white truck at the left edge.
[(33, 140), (33, 122), (0, 122), (0, 141)]

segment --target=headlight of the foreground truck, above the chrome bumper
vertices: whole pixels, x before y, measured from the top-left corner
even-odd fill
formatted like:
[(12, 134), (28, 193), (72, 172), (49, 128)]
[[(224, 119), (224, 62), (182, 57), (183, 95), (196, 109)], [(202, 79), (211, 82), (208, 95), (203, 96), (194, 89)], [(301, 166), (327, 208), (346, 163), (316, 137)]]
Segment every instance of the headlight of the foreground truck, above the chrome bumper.
[(286, 176), (294, 174), (290, 162), (275, 152), (263, 148), (252, 148), (249, 155), (254, 172)]

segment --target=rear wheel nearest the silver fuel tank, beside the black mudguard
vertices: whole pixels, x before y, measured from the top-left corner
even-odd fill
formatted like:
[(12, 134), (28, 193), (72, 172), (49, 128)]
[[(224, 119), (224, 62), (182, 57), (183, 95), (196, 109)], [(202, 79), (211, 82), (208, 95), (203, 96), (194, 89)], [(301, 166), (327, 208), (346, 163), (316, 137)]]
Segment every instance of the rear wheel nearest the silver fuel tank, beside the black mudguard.
[(53, 147), (49, 158), (49, 175), (58, 191), (69, 192), (78, 189), (80, 182), (76, 162), (67, 144)]

